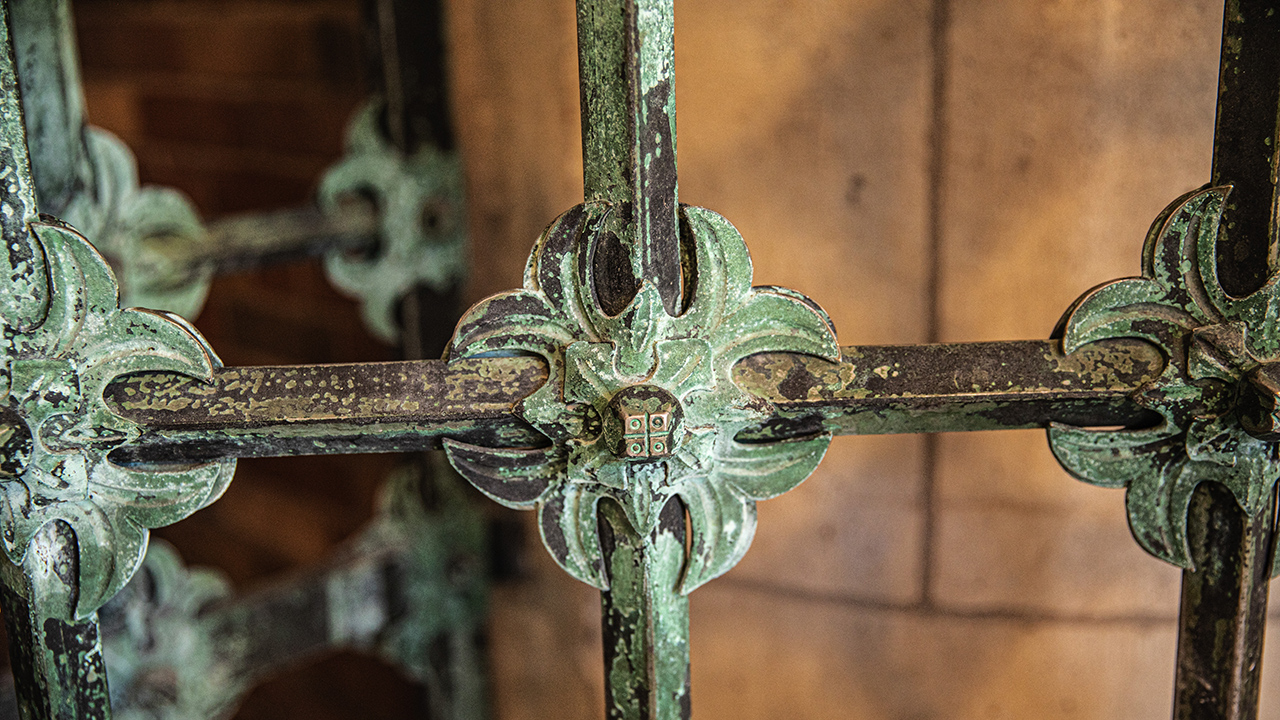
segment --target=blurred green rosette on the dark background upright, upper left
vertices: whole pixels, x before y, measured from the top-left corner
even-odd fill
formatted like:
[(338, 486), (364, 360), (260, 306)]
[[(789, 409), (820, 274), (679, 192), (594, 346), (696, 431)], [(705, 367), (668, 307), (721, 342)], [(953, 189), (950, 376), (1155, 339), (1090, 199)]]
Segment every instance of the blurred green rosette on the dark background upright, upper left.
[(357, 297), (369, 329), (387, 342), (399, 337), (401, 300), (416, 286), (447, 292), (466, 277), (462, 168), (453, 152), (420, 143), (404, 155), (387, 137), (380, 101), (356, 113), (347, 155), (320, 182), (320, 206), (330, 214), (371, 201), (380, 241), (362, 254), (330, 252), (329, 282)]

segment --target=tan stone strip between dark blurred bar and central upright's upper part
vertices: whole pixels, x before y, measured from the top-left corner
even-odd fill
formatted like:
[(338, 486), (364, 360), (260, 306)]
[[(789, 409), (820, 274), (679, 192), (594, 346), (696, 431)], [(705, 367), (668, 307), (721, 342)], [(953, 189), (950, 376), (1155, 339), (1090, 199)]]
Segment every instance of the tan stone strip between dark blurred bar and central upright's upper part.
[(572, 3), (456, 0), (448, 19), (479, 300), (520, 287), (538, 234), (582, 201), (577, 35)]

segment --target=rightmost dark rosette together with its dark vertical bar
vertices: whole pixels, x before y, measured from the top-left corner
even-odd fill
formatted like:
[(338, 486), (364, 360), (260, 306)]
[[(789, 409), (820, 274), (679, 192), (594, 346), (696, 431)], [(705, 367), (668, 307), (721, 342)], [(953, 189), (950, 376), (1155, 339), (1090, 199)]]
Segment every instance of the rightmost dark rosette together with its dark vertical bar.
[(1175, 720), (1257, 717), (1277, 569), (1277, 78), (1275, 4), (1228, 0), (1212, 186), (1156, 219), (1140, 278), (1091, 291), (1065, 318), (1065, 350), (1137, 337), (1170, 359), (1140, 398), (1158, 424), (1050, 438), (1076, 477), (1128, 488), (1138, 542), (1185, 569)]

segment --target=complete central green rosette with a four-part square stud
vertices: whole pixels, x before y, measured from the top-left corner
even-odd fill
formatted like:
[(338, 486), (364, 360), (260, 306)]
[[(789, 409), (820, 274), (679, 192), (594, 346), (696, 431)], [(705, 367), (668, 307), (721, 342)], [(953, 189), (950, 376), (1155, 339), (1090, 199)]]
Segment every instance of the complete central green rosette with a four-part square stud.
[(756, 352), (838, 360), (831, 320), (804, 296), (750, 287), (751, 260), (724, 218), (682, 206), (685, 297), (671, 316), (639, 283), (616, 315), (596, 299), (596, 251), (613, 209), (580, 205), (534, 247), (525, 290), (497, 295), (458, 324), (449, 359), (536, 354), (549, 380), (518, 406), (550, 439), (544, 448), (445, 441), (453, 465), (509, 507), (536, 507), (543, 542), (571, 575), (608, 589), (598, 506), (617, 502), (648, 537), (667, 502), (689, 514), (680, 591), (726, 573), (755, 533), (755, 501), (778, 496), (817, 468), (829, 434), (746, 445), (744, 428), (769, 405), (733, 384), (735, 363)]

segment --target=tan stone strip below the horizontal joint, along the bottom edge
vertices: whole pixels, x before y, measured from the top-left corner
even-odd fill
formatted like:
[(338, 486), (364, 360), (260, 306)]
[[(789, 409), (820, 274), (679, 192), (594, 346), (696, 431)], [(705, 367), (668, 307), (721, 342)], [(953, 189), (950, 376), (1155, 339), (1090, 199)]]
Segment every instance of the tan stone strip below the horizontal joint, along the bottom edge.
[(701, 717), (1114, 720), (1169, 712), (1169, 621), (942, 618), (780, 605), (716, 588), (694, 598), (692, 615)]

